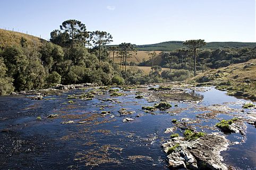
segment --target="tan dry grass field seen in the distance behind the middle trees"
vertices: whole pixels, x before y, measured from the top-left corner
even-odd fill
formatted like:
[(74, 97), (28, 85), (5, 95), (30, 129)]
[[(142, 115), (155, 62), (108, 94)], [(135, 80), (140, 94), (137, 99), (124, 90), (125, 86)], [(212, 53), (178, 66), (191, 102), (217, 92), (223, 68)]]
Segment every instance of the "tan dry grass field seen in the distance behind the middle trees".
[[(134, 62), (142, 62), (143, 59), (145, 60), (149, 60), (149, 53), (150, 52), (153, 52), (153, 51), (137, 51), (136, 53), (134, 52), (133, 56), (131, 58), (127, 58), (127, 62), (131, 62), (131, 61), (134, 61)], [(161, 51), (155, 51), (157, 53), (157, 55), (159, 55), (159, 53)], [(113, 59), (113, 52), (111, 52), (110, 54), (110, 58)], [(116, 63), (120, 63), (120, 58), (118, 58), (116, 56), (116, 53), (114, 54), (114, 60)]]

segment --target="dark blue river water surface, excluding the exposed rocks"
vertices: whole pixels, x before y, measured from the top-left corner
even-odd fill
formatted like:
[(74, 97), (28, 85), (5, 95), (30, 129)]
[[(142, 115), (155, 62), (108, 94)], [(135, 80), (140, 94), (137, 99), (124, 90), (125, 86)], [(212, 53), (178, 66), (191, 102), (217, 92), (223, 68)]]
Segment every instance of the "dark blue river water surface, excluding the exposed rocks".
[[(174, 102), (171, 104), (178, 104), (177, 108), (150, 114), (141, 107), (154, 103), (135, 99), (135, 92), (114, 97), (120, 103), (100, 100), (110, 98), (109, 93), (96, 95), (91, 101), (66, 99), (67, 95), (81, 93), (73, 90), (61, 96), (48, 96), (56, 98), (54, 100), (40, 101), (22, 95), (0, 97), (0, 169), (168, 169), (161, 144), (169, 139), (171, 133), (164, 131), (174, 126), (173, 119), (198, 119), (196, 115), (204, 113), (198, 108), (212, 104), (234, 110), (218, 114), (218, 119), (234, 115), (246, 117), (247, 110), (241, 112), (241, 107), (248, 102), (211, 88), (207, 92), (191, 91), (200, 95), (202, 102)], [(70, 100), (75, 103), (68, 104)], [(135, 113), (121, 116), (118, 113), (121, 108)], [(102, 115), (101, 111), (110, 111), (110, 114)], [(58, 117), (49, 119), (49, 114), (58, 114)], [(39, 116), (41, 120), (37, 120)], [(125, 123), (124, 118), (135, 120)], [(199, 119), (200, 122), (191, 125), (206, 132), (220, 132), (217, 128), (207, 128), (219, 122), (217, 119)], [(61, 124), (66, 121), (74, 123)], [(221, 152), (224, 162), (236, 169), (256, 167), (255, 128), (251, 124), (246, 127), (246, 137), (238, 133), (225, 134), (231, 142), (240, 142)], [(176, 132), (182, 136), (181, 129)]]

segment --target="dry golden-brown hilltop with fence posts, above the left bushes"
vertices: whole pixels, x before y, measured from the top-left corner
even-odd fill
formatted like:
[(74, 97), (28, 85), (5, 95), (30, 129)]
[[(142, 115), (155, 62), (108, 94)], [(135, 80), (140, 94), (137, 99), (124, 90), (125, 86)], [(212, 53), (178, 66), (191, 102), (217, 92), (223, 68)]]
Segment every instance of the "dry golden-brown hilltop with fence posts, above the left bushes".
[(0, 29), (0, 48), (7, 46), (21, 46), (22, 37), (27, 40), (26, 43), (29, 47), (40, 47), (42, 41), (45, 41), (33, 35)]

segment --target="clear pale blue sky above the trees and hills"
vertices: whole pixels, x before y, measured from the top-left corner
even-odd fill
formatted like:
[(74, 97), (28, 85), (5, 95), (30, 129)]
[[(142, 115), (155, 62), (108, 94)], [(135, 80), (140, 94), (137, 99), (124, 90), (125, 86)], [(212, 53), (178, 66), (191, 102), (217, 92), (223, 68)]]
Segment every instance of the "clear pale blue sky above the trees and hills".
[(255, 0), (0, 0), (0, 28), (48, 40), (65, 20), (106, 31), (112, 44), (255, 41)]

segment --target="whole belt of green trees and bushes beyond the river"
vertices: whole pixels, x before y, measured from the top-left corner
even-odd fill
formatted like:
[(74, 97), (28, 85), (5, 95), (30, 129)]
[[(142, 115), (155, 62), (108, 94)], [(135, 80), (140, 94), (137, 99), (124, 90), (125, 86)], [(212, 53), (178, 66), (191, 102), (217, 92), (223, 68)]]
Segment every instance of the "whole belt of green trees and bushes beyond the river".
[[(3, 32), (2, 32), (3, 33)], [(13, 91), (28, 91), (47, 88), (56, 84), (97, 83), (98, 85), (124, 85), (161, 83), (169, 80), (184, 80), (196, 70), (225, 67), (255, 58), (255, 48), (203, 49), (206, 43), (195, 50), (191, 40), (184, 46), (156, 55), (140, 66), (152, 66), (149, 74), (139, 68), (126, 68), (126, 59), (136, 53), (135, 44), (121, 43), (109, 46), (113, 41), (105, 31), (88, 31), (77, 20), (64, 21), (59, 30), (50, 32), (50, 41), (29, 41), (28, 37), (14, 37), (18, 43), (0, 46), (0, 95)], [(8, 40), (6, 40), (8, 42)], [(196, 42), (196, 41), (194, 41)], [(187, 47), (187, 48), (184, 48)], [(114, 62), (114, 54), (120, 59)], [(112, 58), (113, 55), (113, 58)], [(161, 71), (161, 67), (170, 70)], [(172, 68), (178, 70), (172, 71)]]

